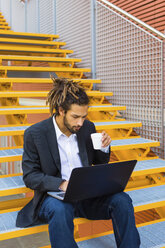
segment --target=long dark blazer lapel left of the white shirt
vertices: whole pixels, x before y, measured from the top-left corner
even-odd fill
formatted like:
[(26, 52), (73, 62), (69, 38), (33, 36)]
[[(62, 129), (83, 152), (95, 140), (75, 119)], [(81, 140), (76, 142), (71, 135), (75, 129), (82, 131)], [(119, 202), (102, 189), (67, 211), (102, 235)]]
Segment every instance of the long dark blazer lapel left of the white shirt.
[(52, 117), (48, 119), (48, 126), (46, 132), (47, 132), (46, 137), (50, 152), (52, 154), (52, 157), (55, 161), (57, 168), (61, 171), (61, 161), (60, 161), (57, 137), (56, 137), (56, 132), (54, 129)]

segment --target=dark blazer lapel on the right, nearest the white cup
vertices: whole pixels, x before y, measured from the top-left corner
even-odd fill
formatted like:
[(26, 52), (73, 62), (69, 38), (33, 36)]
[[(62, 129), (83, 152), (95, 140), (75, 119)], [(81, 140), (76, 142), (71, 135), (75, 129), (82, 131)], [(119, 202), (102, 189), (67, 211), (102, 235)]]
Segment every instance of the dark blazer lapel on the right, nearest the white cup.
[(79, 154), (80, 154), (82, 165), (88, 166), (89, 165), (88, 155), (87, 155), (87, 150), (85, 146), (84, 135), (81, 132), (81, 130), (77, 133), (77, 141), (78, 141)]

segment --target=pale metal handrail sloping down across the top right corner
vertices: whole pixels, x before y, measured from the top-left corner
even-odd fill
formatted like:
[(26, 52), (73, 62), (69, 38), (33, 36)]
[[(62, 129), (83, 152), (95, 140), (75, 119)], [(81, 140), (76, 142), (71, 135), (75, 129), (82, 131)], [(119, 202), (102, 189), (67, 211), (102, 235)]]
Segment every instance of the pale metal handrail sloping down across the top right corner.
[(102, 2), (102, 3), (106, 4), (106, 5), (108, 5), (112, 9), (118, 11), (120, 14), (128, 17), (132, 21), (136, 22), (137, 24), (141, 25), (142, 27), (146, 28), (147, 30), (151, 31), (152, 33), (156, 34), (158, 37), (161, 37), (161, 38), (165, 39), (165, 35), (163, 33), (159, 32), (158, 30), (156, 30), (155, 28), (153, 28), (150, 25), (146, 24), (145, 22), (139, 20), (135, 16), (127, 13), (125, 10), (122, 10), (121, 8), (117, 7), (116, 5), (110, 3), (109, 1), (107, 1), (107, 0), (99, 0), (99, 2), (100, 3)]

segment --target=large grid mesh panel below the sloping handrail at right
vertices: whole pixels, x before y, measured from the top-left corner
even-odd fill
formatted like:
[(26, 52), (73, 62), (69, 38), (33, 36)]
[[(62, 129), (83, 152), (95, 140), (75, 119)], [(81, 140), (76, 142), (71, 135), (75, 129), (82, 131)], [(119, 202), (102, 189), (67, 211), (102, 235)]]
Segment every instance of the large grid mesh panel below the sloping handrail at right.
[(143, 137), (161, 142), (161, 154), (162, 41), (99, 2), (96, 18), (99, 88), (113, 92), (113, 104), (127, 106), (127, 120), (142, 122)]

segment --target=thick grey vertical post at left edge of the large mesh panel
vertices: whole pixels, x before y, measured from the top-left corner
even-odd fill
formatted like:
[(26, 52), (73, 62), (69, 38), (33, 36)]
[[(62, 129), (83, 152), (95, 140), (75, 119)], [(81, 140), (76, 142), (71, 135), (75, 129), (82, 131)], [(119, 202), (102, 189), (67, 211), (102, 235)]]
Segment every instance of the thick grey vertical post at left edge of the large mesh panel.
[[(92, 78), (96, 78), (96, 0), (91, 0)], [(94, 84), (93, 89), (96, 88)]]

